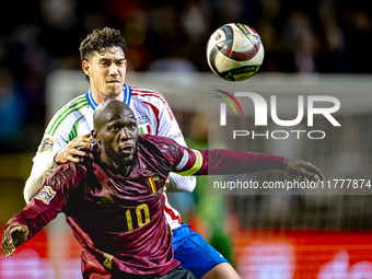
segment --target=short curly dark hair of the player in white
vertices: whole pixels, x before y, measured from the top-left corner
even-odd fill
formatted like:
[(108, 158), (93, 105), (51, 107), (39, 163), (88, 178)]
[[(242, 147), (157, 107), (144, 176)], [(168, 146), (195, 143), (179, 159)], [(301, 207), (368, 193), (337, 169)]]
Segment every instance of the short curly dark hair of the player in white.
[[(88, 60), (88, 56), (92, 51), (97, 51), (103, 55), (111, 47), (121, 48), (124, 54), (127, 54), (127, 44), (120, 34), (120, 31), (104, 27), (103, 30), (94, 30), (80, 44), (80, 59), (81, 62)], [(89, 77), (85, 74), (86, 80)]]

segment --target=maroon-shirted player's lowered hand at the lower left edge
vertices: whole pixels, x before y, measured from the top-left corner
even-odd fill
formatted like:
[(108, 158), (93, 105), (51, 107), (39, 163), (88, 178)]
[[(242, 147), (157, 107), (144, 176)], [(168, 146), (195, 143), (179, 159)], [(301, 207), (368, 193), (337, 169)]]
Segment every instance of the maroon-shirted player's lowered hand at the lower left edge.
[(24, 224), (13, 224), (4, 230), (2, 235), (1, 252), (8, 258), (15, 252), (15, 246), (20, 240), (28, 235), (28, 228)]

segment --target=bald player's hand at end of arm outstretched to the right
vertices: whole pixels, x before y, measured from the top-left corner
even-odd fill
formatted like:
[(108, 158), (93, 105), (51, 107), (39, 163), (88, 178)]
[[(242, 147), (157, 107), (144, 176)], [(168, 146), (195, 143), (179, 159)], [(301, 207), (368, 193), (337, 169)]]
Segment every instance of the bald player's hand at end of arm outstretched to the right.
[(310, 182), (324, 181), (324, 175), (319, 168), (309, 162), (284, 158), (286, 171), (292, 175), (300, 175), (300, 182), (306, 177)]

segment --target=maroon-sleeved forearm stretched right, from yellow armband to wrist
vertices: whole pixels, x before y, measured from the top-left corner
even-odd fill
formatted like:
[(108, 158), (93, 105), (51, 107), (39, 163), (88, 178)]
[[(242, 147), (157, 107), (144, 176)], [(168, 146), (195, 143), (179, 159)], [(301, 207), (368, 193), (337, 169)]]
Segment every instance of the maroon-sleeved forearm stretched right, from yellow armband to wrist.
[(195, 175), (242, 174), (286, 170), (284, 158), (235, 150), (201, 150), (202, 165)]

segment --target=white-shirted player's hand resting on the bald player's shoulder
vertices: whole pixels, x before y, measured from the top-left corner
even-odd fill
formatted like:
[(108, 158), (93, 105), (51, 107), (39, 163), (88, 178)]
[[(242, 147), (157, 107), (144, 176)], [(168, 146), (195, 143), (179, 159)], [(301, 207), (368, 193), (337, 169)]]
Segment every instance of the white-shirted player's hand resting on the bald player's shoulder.
[(79, 163), (79, 156), (84, 156), (85, 152), (78, 148), (90, 148), (91, 143), (93, 143), (93, 139), (91, 138), (90, 132), (74, 138), (56, 154), (55, 162), (57, 164), (63, 164), (69, 161)]

